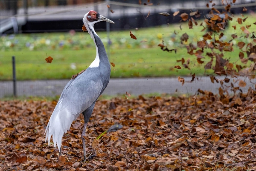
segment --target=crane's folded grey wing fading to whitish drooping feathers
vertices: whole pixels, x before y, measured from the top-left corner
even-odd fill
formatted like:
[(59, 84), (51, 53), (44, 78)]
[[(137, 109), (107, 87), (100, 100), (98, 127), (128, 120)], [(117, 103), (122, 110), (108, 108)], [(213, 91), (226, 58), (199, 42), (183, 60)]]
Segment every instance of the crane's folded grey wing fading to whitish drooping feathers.
[(103, 83), (99, 76), (84, 72), (70, 80), (61, 93), (61, 97), (52, 112), (45, 130), (48, 144), (52, 136), (54, 147), (61, 148), (61, 139), (64, 132), (70, 129), (73, 121), (79, 114), (90, 107), (99, 97)]

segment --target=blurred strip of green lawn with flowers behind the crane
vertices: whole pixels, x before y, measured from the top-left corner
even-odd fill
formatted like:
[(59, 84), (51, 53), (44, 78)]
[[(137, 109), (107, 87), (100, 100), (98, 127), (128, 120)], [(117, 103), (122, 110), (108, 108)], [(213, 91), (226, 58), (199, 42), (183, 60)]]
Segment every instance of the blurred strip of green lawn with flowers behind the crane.
[[(241, 25), (236, 22), (237, 17), (240, 16), (233, 17), (229, 28), (224, 31), (224, 36), (227, 36), (225, 41), (229, 41), (231, 34), (236, 33), (239, 37), (243, 36), (236, 39), (234, 43), (240, 41), (248, 43), (251, 39), (244, 38), (244, 34), (240, 30)], [(254, 20), (255, 17), (249, 16), (244, 22), (244, 25), (252, 25), (248, 29), (250, 32), (256, 30), (256, 25), (252, 24), (255, 22)], [(231, 27), (235, 24), (236, 30)], [(196, 76), (204, 75), (204, 65), (210, 60), (209, 57), (202, 60), (205, 61), (203, 64), (198, 64), (194, 55), (187, 54), (185, 45), (180, 45), (180, 36), (183, 33), (189, 35), (186, 45), (190, 42), (196, 44), (201, 36), (205, 34), (205, 32), (201, 32), (203, 27), (194, 25), (193, 30), (189, 30), (187, 22), (183, 22), (182, 30), (180, 30), (179, 25), (143, 28), (138, 31), (132, 30), (137, 36), (137, 40), (130, 38), (129, 31), (112, 31), (109, 59), (116, 66), (111, 66), (111, 77), (190, 76), (193, 73)], [(174, 34), (174, 31), (177, 34)], [(106, 33), (99, 32), (98, 35), (102, 38), (106, 47)], [(218, 37), (218, 34), (216, 37)], [(49, 45), (46, 45), (47, 40), (50, 40)], [(140, 42), (142, 40), (146, 42)], [(174, 51), (171, 53), (162, 51), (157, 47), (162, 40), (169, 49), (176, 48), (177, 54)], [(60, 46), (60, 42), (63, 42), (64, 45)], [(8, 46), (10, 43), (12, 45)], [(33, 45), (34, 48), (26, 47), (26, 43)], [(46, 54), (52, 56), (51, 64), (46, 63)], [(241, 64), (238, 54), (239, 48), (234, 45), (234, 51), (231, 53), (224, 52), (224, 58), (230, 58), (230, 62)], [(14, 38), (2, 37), (0, 39), (0, 80), (12, 79), (12, 56), (16, 56), (18, 80), (65, 79), (71, 78), (73, 74), (86, 69), (94, 60), (96, 50), (90, 35), (84, 32), (76, 33), (74, 36), (69, 33), (51, 33), (21, 34)], [(176, 62), (181, 58), (190, 59), (189, 67), (191, 70), (183, 68), (180, 62)], [(72, 63), (76, 66), (76, 69), (71, 68)], [(175, 65), (180, 65), (182, 70), (175, 69)], [(207, 70), (208, 73), (212, 73), (212, 70)]]

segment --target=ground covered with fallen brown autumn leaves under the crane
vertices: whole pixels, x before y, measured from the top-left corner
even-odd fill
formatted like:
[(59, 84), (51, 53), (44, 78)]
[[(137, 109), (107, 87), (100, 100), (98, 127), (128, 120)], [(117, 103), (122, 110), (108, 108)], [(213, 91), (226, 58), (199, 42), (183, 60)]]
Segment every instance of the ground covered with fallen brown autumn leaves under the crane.
[[(234, 89), (235, 91), (235, 89)], [(83, 162), (82, 115), (62, 139), (64, 157), (44, 143), (56, 101), (0, 101), (2, 170), (253, 171), (256, 169), (256, 91), (185, 97), (113, 98), (96, 102), (87, 125)], [(99, 137), (114, 124), (123, 127)], [(96, 140), (99, 137), (99, 140)]]

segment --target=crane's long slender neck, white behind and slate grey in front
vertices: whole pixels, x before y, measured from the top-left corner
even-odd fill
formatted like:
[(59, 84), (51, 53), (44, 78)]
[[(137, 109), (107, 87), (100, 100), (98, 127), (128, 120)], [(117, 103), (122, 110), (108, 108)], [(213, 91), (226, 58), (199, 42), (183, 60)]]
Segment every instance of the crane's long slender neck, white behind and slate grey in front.
[(105, 50), (105, 47), (103, 45), (103, 42), (99, 38), (99, 36), (96, 34), (96, 32), (93, 29), (93, 25), (88, 25), (88, 33), (90, 34), (91, 38), (93, 39), (93, 42), (96, 46), (96, 58), (93, 61), (92, 64), (90, 64), (89, 67), (99, 67), (99, 62), (108, 62), (108, 56)]

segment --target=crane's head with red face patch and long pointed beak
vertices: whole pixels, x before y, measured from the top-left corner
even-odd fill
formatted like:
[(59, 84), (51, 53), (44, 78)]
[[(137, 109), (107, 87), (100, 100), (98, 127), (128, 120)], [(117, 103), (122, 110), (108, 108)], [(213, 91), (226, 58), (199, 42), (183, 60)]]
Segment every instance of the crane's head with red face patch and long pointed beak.
[(89, 11), (87, 14), (84, 15), (83, 22), (84, 23), (90, 23), (90, 24), (95, 24), (96, 22), (100, 21), (106, 21), (115, 24), (113, 21), (107, 19), (106, 17), (103, 17), (100, 15), (97, 11)]

